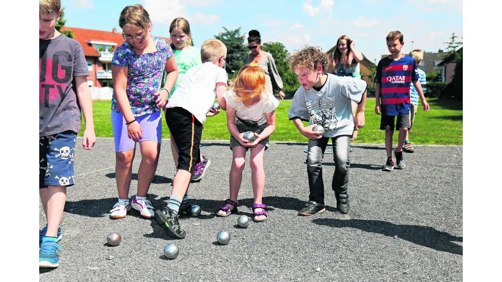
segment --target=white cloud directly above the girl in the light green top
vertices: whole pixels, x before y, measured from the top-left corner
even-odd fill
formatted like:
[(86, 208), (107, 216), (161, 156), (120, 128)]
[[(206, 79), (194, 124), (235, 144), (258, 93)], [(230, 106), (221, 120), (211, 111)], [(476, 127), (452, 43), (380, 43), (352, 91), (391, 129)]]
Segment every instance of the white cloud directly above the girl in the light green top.
[(143, 6), (150, 14), (150, 20), (152, 20), (154, 25), (170, 25), (171, 22), (178, 17), (186, 18), (190, 24), (209, 25), (219, 22), (220, 20), (217, 15), (206, 15), (202, 13), (189, 15), (185, 5), (182, 5), (180, 0), (145, 0)]

